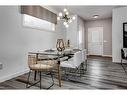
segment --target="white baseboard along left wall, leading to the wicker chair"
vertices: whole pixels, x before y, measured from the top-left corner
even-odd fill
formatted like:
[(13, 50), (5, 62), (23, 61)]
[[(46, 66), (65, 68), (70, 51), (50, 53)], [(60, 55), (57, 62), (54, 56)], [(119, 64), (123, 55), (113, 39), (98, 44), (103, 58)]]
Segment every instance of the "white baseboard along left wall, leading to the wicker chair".
[(2, 77), (2, 78), (0, 78), (0, 82), (4, 82), (4, 81), (7, 81), (7, 80), (10, 80), (12, 78), (15, 78), (17, 76), (23, 75), (23, 74), (28, 73), (28, 72), (29, 72), (29, 70), (24, 70), (24, 71), (21, 71), (21, 72), (12, 74), (12, 75), (8, 75), (8, 76), (5, 76), (5, 77)]

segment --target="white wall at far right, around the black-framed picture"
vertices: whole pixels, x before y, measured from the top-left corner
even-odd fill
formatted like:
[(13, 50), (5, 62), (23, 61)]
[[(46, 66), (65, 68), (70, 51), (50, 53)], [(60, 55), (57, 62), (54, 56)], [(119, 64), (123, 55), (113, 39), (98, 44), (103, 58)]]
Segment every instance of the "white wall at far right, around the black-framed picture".
[(113, 9), (112, 17), (112, 58), (120, 62), (123, 47), (123, 22), (127, 22), (127, 7)]

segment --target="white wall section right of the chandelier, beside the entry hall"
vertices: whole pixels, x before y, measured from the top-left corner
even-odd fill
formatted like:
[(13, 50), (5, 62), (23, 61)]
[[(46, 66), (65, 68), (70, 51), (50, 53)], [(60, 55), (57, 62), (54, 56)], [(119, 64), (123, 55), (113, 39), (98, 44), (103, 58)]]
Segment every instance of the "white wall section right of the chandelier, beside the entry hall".
[[(66, 40), (70, 40), (70, 45), (73, 48), (79, 48), (83, 49), (85, 48), (85, 41), (84, 41), (84, 35), (85, 35), (85, 26), (84, 26), (84, 20), (80, 18), (79, 16), (75, 15), (76, 19), (72, 21), (72, 23), (69, 24), (69, 27), (67, 28), (66, 32)], [(81, 27), (81, 28), (79, 28)], [(79, 44), (79, 30), (82, 31), (82, 44)]]

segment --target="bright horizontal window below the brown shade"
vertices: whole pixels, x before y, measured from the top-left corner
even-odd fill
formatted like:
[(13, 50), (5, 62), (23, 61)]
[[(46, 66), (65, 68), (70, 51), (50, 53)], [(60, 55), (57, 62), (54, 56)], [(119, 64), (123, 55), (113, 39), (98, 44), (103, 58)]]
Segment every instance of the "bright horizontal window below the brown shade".
[(31, 28), (35, 28), (35, 29), (55, 31), (54, 23), (30, 16), (30, 15), (26, 15), (26, 14), (23, 15), (23, 25), (31, 27)]

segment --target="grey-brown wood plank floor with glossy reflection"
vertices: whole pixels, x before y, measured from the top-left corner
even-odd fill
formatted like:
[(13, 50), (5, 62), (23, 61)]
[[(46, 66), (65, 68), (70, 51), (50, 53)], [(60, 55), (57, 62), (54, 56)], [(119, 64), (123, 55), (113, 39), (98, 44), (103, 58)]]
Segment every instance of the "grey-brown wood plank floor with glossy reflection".
[[(127, 75), (119, 63), (112, 63), (111, 58), (88, 57), (88, 68), (82, 77), (62, 78), (62, 87), (55, 85), (51, 89), (127, 89)], [(25, 89), (27, 74), (0, 83), (0, 89)], [(50, 83), (47, 76), (42, 77), (42, 86)], [(39, 89), (38, 85), (29, 89)]]

